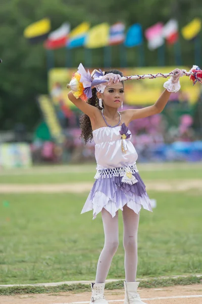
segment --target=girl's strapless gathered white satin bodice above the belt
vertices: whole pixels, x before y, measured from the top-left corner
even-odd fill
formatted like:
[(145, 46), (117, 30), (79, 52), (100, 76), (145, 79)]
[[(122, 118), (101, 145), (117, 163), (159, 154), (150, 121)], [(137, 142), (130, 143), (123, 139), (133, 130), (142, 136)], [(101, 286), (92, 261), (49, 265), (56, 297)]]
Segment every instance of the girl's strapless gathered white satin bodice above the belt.
[(97, 170), (131, 166), (136, 163), (138, 155), (131, 142), (132, 134), (129, 130), (131, 136), (126, 139), (127, 151), (123, 153), (120, 130), (121, 126), (102, 127), (92, 131)]

